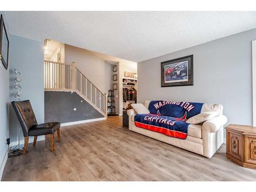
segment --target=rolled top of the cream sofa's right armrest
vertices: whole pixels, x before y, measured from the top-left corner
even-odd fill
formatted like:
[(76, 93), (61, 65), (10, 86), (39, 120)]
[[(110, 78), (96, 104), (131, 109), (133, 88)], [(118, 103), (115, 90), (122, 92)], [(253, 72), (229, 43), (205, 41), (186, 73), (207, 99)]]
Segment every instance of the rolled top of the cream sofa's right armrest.
[(227, 122), (227, 117), (224, 115), (219, 115), (215, 118), (209, 119), (203, 123), (202, 129), (204, 131), (215, 133), (220, 127), (222, 127)]

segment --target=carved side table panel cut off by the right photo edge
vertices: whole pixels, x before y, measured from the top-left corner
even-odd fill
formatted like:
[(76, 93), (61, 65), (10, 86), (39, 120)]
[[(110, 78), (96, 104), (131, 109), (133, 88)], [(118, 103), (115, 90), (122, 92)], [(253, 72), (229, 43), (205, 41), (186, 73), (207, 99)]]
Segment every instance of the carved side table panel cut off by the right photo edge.
[(245, 136), (245, 162), (256, 164), (256, 136)]

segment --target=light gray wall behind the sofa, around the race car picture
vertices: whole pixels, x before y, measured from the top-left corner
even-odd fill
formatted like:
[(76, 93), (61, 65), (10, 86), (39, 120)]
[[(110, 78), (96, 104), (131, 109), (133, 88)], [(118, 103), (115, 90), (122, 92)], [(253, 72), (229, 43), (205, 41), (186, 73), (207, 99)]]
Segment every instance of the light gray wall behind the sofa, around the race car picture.
[[(251, 41), (256, 29), (138, 63), (138, 102), (221, 103), (227, 123), (252, 124)], [(194, 55), (194, 86), (161, 88), (161, 61)]]

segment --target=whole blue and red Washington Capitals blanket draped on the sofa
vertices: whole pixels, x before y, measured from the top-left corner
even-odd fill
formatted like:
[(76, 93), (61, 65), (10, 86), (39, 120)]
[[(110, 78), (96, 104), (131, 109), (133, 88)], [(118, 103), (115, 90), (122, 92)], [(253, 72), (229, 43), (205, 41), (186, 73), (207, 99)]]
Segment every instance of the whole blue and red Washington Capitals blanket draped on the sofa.
[(201, 113), (203, 103), (151, 101), (148, 110), (151, 114), (136, 114), (137, 127), (162, 133), (179, 139), (187, 138), (189, 123), (186, 120)]

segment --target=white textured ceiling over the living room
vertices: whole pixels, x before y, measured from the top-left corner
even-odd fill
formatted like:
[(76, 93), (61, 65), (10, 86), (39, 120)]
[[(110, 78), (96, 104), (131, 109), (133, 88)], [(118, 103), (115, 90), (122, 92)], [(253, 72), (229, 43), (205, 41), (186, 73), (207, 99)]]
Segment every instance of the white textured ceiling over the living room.
[(139, 62), (256, 28), (256, 12), (5, 12), (11, 34)]

